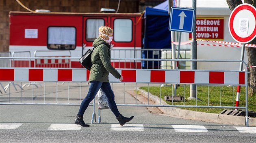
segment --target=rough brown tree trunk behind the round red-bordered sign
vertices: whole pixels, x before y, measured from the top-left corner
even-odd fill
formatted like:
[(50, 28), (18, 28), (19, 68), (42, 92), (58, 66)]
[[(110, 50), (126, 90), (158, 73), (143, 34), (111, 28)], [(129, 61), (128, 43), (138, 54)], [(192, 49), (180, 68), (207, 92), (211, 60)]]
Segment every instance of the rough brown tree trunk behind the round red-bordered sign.
[[(233, 9), (239, 4), (242, 4), (241, 0), (226, 0), (226, 1), (231, 11), (233, 11)], [(256, 2), (254, 2), (254, 0), (244, 0), (244, 2), (248, 4), (252, 4), (254, 7), (256, 7)], [(256, 44), (256, 39), (249, 42), (249, 44)], [(247, 51), (248, 66), (255, 66), (256, 65), (256, 48), (245, 47), (245, 49)], [(253, 96), (254, 93), (256, 93), (256, 68), (250, 68), (248, 70), (250, 71), (250, 74), (248, 75), (248, 95)]]

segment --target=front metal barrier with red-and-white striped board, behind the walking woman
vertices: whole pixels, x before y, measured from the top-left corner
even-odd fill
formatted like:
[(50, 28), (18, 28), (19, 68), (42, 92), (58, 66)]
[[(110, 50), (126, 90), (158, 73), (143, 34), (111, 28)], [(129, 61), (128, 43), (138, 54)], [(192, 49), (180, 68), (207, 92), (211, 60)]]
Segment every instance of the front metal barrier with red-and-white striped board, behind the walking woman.
[[(8, 57), (1, 57), (0, 59), (8, 59)], [(9, 58), (10, 59), (10, 58)], [(15, 58), (13, 59), (24, 59), (24, 58)], [(26, 58), (26, 59), (40, 59), (40, 58)], [(43, 59), (60, 59), (60, 58), (43, 58)], [(65, 58), (65, 59), (79, 59), (79, 58)], [(195, 61), (195, 62), (236, 62), (236, 63), (243, 63), (245, 67), (247, 64), (244, 61), (237, 61), (237, 60), (171, 60), (171, 59), (113, 59), (113, 60), (132, 60), (132, 61)], [(236, 71), (236, 70), (185, 70), (185, 69), (117, 69), (122, 76), (124, 76), (123, 82), (119, 82), (118, 79), (114, 78), (111, 74), (109, 75), (109, 81), (111, 83), (119, 83), (124, 84), (124, 103), (117, 104), (118, 106), (134, 106), (134, 107), (201, 107), (201, 108), (228, 108), (228, 109), (245, 109), (246, 110), (246, 126), (249, 126), (248, 123), (248, 84), (247, 84), (247, 68), (245, 71)], [(80, 102), (82, 100), (82, 83), (85, 83), (89, 79), (89, 71), (85, 70), (84, 68), (20, 68), (20, 67), (11, 67), (0, 68), (1, 75), (3, 73), (8, 73), (5, 76), (0, 76), (1, 82), (20, 82), (22, 86), (22, 82), (43, 82), (44, 86), (44, 94), (42, 95), (39, 93), (39, 88), (37, 91), (32, 86), (32, 96), (23, 95), (25, 91), (20, 90), (20, 100), (13, 98), (15, 93), (7, 94), (7, 100), (0, 102), (0, 105), (80, 105), (80, 103), (71, 103), (74, 100), (70, 100), (69, 91), (71, 88), (69, 87), (69, 83), (80, 83)], [(51, 99), (56, 99), (56, 102), (50, 100), (49, 103), (46, 102), (48, 99), (48, 95), (52, 93), (46, 93), (46, 83), (54, 84), (56, 83), (56, 95)], [(68, 82), (68, 95), (67, 95), (67, 102), (63, 103), (63, 96), (59, 95), (59, 92), (63, 92), (66, 90), (58, 90), (58, 83), (59, 82)], [(234, 107), (233, 106), (223, 106), (220, 101), (220, 105), (210, 106), (210, 105), (150, 105), (148, 104), (138, 104), (137, 103), (137, 96), (135, 98), (136, 102), (134, 104), (127, 103), (125, 98), (125, 91), (126, 91), (126, 84), (196, 84), (196, 85), (208, 85), (208, 86), (243, 86), (245, 87), (245, 106), (241, 107)], [(88, 85), (87, 85), (88, 86)], [(54, 90), (53, 86), (49, 86), (52, 90)], [(61, 87), (59, 87), (61, 88)], [(136, 88), (137, 89), (137, 88)], [(31, 94), (31, 93), (30, 93)], [(37, 98), (41, 97), (44, 99), (43, 103), (35, 103), (36, 98), (34, 94), (37, 94)], [(136, 92), (137, 94), (137, 92)], [(77, 94), (72, 94), (72, 96)], [(16, 95), (17, 96), (17, 95)], [(61, 97), (60, 97), (61, 96)], [(32, 102), (24, 101), (24, 98), (31, 98)], [(74, 98), (74, 97), (72, 97)], [(220, 95), (221, 98), (221, 95)], [(16, 100), (15, 100), (16, 99)], [(17, 103), (16, 101), (19, 101)], [(149, 95), (148, 95), (149, 101)], [(160, 97), (161, 101), (161, 97)], [(96, 122), (95, 118), (95, 99), (92, 104), (93, 106), (93, 114), (92, 114), (92, 123), (93, 119)], [(99, 119), (100, 121), (100, 115)]]

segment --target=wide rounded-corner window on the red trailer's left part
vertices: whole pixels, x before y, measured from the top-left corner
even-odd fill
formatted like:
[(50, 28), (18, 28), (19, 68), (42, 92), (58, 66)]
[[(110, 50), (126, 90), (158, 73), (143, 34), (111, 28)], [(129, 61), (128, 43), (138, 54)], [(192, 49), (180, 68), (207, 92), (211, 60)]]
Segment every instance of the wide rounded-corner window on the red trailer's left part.
[(47, 46), (49, 49), (74, 50), (76, 48), (76, 28), (48, 27)]

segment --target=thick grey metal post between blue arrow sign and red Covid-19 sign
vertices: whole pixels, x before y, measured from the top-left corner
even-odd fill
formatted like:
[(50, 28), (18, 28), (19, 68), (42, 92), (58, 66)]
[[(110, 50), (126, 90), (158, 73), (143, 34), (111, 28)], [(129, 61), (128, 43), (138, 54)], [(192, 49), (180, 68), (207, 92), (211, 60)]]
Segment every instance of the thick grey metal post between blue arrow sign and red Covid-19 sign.
[[(195, 9), (194, 27), (192, 32), (192, 47), (191, 47), (191, 59), (197, 59), (197, 42), (196, 42), (196, 0), (192, 1), (192, 7)], [(190, 62), (190, 69), (197, 69), (197, 63), (195, 61)], [(188, 99), (196, 98), (196, 84), (190, 85), (190, 97)]]

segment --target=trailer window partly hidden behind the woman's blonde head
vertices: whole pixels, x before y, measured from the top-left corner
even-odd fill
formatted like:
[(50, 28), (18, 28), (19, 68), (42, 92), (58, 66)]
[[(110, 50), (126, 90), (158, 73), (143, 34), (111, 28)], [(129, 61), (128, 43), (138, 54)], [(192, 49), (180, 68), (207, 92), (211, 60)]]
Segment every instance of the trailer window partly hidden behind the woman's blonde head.
[(99, 27), (104, 26), (104, 19), (87, 19), (86, 20), (86, 40), (94, 41), (98, 37)]

